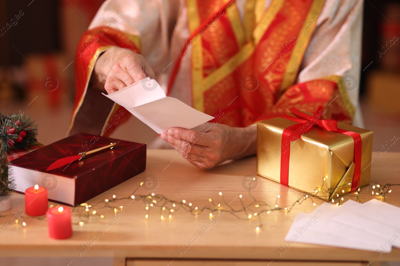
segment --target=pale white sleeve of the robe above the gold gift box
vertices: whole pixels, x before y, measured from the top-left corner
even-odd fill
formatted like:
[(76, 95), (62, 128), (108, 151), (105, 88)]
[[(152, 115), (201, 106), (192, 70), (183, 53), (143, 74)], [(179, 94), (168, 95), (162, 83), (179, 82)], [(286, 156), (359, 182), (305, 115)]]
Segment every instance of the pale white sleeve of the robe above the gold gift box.
[[(316, 24), (316, 30), (310, 40), (298, 75), (299, 83), (332, 75), (347, 75), (360, 81), (362, 10), (364, 0), (327, 0), (322, 15)], [(351, 78), (351, 77), (350, 77)], [(348, 83), (350, 85), (350, 83)], [(356, 107), (353, 124), (363, 126), (358, 97), (360, 89), (347, 93)]]

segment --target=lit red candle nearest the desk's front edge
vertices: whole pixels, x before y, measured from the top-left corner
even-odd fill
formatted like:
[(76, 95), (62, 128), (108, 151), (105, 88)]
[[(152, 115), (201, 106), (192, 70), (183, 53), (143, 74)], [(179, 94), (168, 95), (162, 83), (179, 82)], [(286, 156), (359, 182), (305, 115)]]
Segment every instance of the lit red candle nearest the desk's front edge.
[(64, 207), (52, 207), (47, 210), (47, 227), (49, 236), (54, 239), (65, 239), (72, 236), (71, 210)]

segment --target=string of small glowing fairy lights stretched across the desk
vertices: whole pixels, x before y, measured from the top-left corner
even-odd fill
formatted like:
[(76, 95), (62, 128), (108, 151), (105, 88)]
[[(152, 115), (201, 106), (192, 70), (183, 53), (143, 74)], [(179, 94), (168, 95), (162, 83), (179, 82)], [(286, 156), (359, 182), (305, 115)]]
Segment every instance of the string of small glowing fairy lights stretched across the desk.
[[(254, 182), (255, 178), (251, 181)], [(111, 212), (116, 214), (118, 211), (123, 209), (122, 205), (118, 205), (117, 203), (119, 201), (123, 200), (131, 200), (130, 203), (134, 200), (140, 200), (144, 204), (144, 208), (146, 209), (147, 213), (145, 215), (145, 218), (148, 219), (150, 217), (150, 213), (155, 210), (159, 209), (158, 215), (160, 217), (160, 220), (172, 218), (173, 213), (176, 211), (184, 210), (187, 213), (190, 213), (191, 215), (200, 215), (201, 213), (208, 213), (208, 215), (213, 217), (215, 213), (220, 213), (221, 211), (224, 211), (224, 213), (230, 213), (234, 217), (240, 220), (250, 220), (250, 219), (258, 219), (259, 225), (256, 227), (256, 231), (259, 231), (262, 228), (262, 219), (261, 219), (261, 214), (266, 213), (270, 214), (273, 211), (280, 211), (284, 210), (285, 212), (290, 212), (292, 208), (296, 206), (296, 204), (301, 205), (306, 201), (307, 199), (312, 201), (312, 205), (316, 206), (316, 203), (314, 203), (313, 197), (318, 195), (318, 193), (328, 193), (325, 189), (321, 187), (317, 187), (314, 189), (312, 194), (300, 194), (298, 195), (298, 198), (296, 201), (294, 201), (291, 205), (286, 206), (286, 207), (280, 207), (278, 205), (278, 201), (280, 199), (280, 195), (277, 195), (275, 204), (272, 205), (271, 203), (266, 203), (264, 201), (260, 201), (256, 199), (252, 193), (250, 188), (252, 187), (252, 183), (249, 186), (249, 191), (248, 191), (248, 196), (252, 198), (251, 203), (244, 203), (243, 195), (239, 195), (239, 201), (240, 201), (240, 206), (241, 207), (232, 207), (230, 206), (230, 203), (228, 203), (224, 197), (224, 194), (222, 192), (219, 192), (218, 196), (219, 199), (216, 200), (215, 198), (209, 198), (209, 205), (198, 207), (195, 204), (193, 204), (190, 201), (186, 201), (185, 199), (182, 200), (174, 200), (174, 199), (169, 199), (165, 195), (158, 195), (155, 193), (148, 193), (145, 195), (136, 195), (136, 192), (144, 182), (141, 182), (138, 187), (128, 196), (128, 197), (120, 197), (117, 198), (116, 195), (112, 195), (112, 198), (110, 199), (104, 199), (102, 201), (97, 202), (94, 205), (90, 205), (89, 203), (82, 203), (80, 206), (77, 207), (72, 207), (72, 213), (79, 217), (79, 222), (72, 223), (74, 225), (81, 225), (83, 226), (85, 223), (90, 222), (90, 218), (93, 215), (97, 215), (100, 218), (104, 219), (105, 216), (103, 214), (100, 214), (99, 211), (102, 209), (110, 209)], [(392, 187), (398, 186), (400, 184), (391, 184), (387, 183), (385, 185), (380, 185), (380, 183), (375, 182), (374, 185), (368, 185), (368, 186), (361, 186), (358, 188), (357, 191), (347, 193), (345, 195), (342, 195), (340, 197), (338, 194), (336, 194), (336, 197), (333, 197), (331, 199), (332, 203), (336, 203), (336, 205), (341, 205), (341, 203), (344, 201), (344, 199), (353, 199), (355, 201), (361, 202), (361, 197), (363, 196), (365, 199), (366, 197), (364, 196), (365, 193), (369, 193), (371, 191), (372, 195), (377, 195), (380, 197), (383, 197), (384, 201), (386, 202), (386, 196), (392, 192)], [(322, 186), (323, 187), (323, 186)], [(342, 190), (344, 192), (344, 190)], [(334, 195), (332, 195), (334, 196)], [(129, 204), (130, 204), (129, 203)], [(222, 203), (222, 205), (221, 205)], [(129, 205), (128, 204), (128, 205)], [(53, 207), (54, 205), (50, 205), (50, 208)], [(10, 216), (16, 216), (16, 215), (0, 215), (0, 218), (5, 218), (5, 217), (10, 217)], [(22, 225), (26, 226), (26, 219), (24, 215), (19, 215), (19, 219), (22, 220)], [(34, 217), (38, 220), (46, 220), (46, 215), (41, 216), (41, 217)], [(15, 223), (19, 223), (18, 219), (15, 219)]]

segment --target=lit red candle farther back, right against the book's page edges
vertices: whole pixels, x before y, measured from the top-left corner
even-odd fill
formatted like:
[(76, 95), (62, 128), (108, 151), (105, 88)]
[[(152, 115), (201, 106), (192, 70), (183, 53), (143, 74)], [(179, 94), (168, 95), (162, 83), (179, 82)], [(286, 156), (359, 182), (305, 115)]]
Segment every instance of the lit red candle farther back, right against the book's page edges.
[(48, 209), (47, 190), (35, 185), (25, 190), (25, 210), (30, 216), (42, 216)]

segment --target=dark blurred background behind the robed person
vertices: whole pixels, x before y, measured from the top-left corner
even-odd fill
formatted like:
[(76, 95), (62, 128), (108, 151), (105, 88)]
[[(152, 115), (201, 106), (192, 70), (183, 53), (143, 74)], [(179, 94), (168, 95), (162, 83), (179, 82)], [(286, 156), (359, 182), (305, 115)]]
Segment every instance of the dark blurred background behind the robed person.
[[(38, 141), (65, 137), (74, 97), (74, 55), (102, 0), (0, 0), (0, 112), (24, 112)], [(3, 28), (12, 18), (15, 25)], [(10, 24), (8, 24), (10, 25)], [(374, 151), (400, 137), (400, 1), (366, 0), (358, 90)], [(392, 44), (390, 44), (392, 43)], [(54, 83), (50, 91), (45, 83)], [(56, 77), (56, 78), (54, 78)], [(58, 87), (57, 87), (58, 86)], [(156, 133), (131, 116), (112, 137), (151, 142)], [(394, 144), (388, 151), (400, 151)]]

